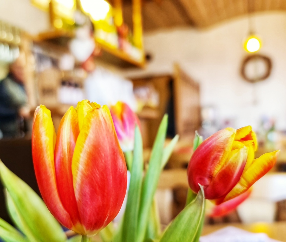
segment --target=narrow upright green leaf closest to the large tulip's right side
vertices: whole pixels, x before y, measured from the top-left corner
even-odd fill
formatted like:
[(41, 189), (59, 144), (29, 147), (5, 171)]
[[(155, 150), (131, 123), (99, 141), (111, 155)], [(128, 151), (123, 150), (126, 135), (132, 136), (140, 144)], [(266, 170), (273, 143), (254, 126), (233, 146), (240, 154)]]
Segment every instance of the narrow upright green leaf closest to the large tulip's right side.
[(143, 179), (143, 143), (138, 126), (135, 128), (134, 154), (131, 168), (130, 185), (124, 214), (122, 241), (134, 242), (138, 232), (137, 221), (140, 193)]

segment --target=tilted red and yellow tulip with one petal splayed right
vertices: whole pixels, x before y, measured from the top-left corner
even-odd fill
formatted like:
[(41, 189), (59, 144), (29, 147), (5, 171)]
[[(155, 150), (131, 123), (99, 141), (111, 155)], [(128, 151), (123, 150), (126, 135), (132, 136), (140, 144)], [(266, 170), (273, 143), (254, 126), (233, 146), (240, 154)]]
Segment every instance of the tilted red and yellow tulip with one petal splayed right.
[(247, 191), (276, 163), (279, 150), (254, 159), (257, 139), (251, 126), (225, 128), (204, 140), (188, 164), (188, 183), (195, 193), (223, 203)]

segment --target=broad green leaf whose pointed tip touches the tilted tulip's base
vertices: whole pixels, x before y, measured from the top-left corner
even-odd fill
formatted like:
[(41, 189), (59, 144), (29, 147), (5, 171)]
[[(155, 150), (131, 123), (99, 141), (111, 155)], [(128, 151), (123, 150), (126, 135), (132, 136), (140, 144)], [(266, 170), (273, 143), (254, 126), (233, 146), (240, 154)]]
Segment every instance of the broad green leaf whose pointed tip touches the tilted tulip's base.
[[(200, 186), (201, 187), (201, 186)], [(160, 242), (195, 242), (204, 220), (205, 198), (201, 187), (196, 199), (188, 204), (164, 232)]]

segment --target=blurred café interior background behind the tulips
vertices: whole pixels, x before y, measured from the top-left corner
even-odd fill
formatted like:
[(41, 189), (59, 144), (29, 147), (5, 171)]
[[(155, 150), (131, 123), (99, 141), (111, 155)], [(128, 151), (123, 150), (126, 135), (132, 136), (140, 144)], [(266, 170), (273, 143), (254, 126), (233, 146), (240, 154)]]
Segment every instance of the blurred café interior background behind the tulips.
[(57, 129), (82, 99), (128, 103), (141, 121), (146, 162), (168, 113), (168, 137), (180, 135), (157, 191), (168, 224), (185, 205), (195, 130), (206, 138), (251, 125), (257, 157), (281, 149), (277, 165), (236, 211), (208, 217), (204, 233), (229, 223), (264, 231), (256, 222), (276, 233), (286, 226), (285, 66), (284, 0), (0, 0), (0, 158), (38, 192), (37, 105), (51, 110)]

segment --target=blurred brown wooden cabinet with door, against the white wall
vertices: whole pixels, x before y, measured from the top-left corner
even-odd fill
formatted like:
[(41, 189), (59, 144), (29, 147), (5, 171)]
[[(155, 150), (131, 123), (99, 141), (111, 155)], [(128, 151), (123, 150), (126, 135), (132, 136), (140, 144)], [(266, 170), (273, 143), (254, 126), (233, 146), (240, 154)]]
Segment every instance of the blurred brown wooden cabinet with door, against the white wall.
[(139, 112), (144, 147), (152, 147), (156, 132), (165, 113), (169, 115), (168, 136), (180, 135), (192, 142), (200, 127), (200, 87), (177, 64), (173, 75), (146, 76), (132, 80), (134, 89), (152, 85), (159, 95), (156, 108), (143, 107)]

